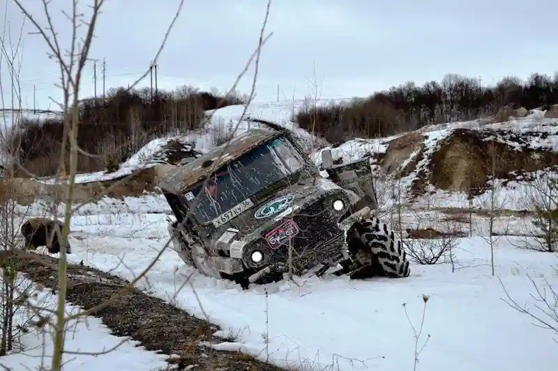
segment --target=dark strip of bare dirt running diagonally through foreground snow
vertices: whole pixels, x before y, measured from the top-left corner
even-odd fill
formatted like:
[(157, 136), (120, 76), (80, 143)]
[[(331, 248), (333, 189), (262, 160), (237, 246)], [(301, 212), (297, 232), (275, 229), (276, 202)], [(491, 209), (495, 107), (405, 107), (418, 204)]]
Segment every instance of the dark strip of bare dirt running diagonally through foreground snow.
[[(35, 283), (55, 289), (58, 272), (40, 264), (35, 257), (38, 258), (31, 253), (13, 258), (17, 270), (27, 274)], [(40, 259), (54, 267), (58, 264), (58, 260), (48, 256)], [(199, 343), (227, 341), (212, 335), (219, 330), (218, 326), (135, 288), (119, 294), (126, 285), (128, 281), (103, 271), (68, 265), (68, 301), (83, 308), (93, 308), (114, 295), (117, 299), (93, 315), (102, 319), (114, 336), (130, 336), (147, 350), (178, 355), (168, 359), (169, 363), (178, 366), (178, 370), (282, 370), (241, 352), (210, 352)]]

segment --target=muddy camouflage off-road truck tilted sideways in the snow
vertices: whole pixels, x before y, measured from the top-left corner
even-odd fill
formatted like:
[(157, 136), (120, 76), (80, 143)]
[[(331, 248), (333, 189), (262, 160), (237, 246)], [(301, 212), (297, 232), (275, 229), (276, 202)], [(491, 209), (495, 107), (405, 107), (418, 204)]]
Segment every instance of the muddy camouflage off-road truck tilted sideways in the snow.
[(292, 132), (251, 129), (160, 180), (176, 221), (180, 258), (242, 287), (326, 272), (351, 278), (409, 276), (409, 260), (377, 208), (369, 159), (323, 170)]

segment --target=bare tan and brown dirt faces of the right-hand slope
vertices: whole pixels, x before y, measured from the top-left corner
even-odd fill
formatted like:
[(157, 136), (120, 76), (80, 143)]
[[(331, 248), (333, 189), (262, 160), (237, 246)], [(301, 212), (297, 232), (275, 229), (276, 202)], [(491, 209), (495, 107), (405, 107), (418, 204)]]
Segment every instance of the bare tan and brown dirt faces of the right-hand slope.
[(414, 196), (425, 193), (428, 184), (474, 195), (485, 190), (492, 175), (516, 180), (558, 166), (557, 151), (536, 145), (550, 136), (548, 132), (459, 128), (426, 145), (425, 134), (412, 132), (384, 143), (386, 151), (373, 158), (388, 173), (412, 177)]

